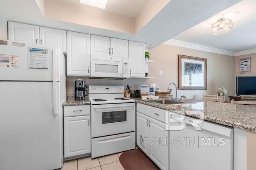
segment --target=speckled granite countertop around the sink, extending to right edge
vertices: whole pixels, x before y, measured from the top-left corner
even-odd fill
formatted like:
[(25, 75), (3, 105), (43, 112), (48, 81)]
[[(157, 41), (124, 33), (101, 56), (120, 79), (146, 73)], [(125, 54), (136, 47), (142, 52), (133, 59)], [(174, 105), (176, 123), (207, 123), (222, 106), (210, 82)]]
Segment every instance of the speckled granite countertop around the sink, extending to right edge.
[(188, 104), (164, 106), (133, 98), (136, 102), (214, 123), (256, 132), (256, 106), (200, 100), (184, 100)]

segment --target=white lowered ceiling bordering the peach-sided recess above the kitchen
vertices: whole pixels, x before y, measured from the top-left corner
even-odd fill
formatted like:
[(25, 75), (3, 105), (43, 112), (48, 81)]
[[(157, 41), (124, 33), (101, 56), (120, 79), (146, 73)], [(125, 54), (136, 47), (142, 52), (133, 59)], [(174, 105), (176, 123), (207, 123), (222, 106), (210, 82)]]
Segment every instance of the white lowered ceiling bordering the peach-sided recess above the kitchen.
[(240, 1), (171, 0), (135, 35), (43, 18), (35, 0), (0, 0), (0, 19), (144, 42), (156, 47)]

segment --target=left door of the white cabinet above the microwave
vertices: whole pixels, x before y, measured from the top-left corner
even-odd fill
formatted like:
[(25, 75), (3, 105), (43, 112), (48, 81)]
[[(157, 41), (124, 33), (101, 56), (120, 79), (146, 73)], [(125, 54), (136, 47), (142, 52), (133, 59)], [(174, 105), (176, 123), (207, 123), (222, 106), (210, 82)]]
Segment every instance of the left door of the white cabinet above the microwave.
[(91, 35), (91, 54), (110, 56), (110, 38)]

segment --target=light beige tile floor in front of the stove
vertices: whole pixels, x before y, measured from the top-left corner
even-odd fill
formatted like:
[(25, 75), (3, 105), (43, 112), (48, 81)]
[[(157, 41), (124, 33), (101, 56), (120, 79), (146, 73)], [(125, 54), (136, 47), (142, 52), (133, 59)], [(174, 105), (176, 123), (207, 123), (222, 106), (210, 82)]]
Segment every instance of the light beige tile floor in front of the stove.
[(123, 152), (110, 154), (99, 158), (79, 158), (64, 162), (61, 170), (124, 170), (119, 162)]

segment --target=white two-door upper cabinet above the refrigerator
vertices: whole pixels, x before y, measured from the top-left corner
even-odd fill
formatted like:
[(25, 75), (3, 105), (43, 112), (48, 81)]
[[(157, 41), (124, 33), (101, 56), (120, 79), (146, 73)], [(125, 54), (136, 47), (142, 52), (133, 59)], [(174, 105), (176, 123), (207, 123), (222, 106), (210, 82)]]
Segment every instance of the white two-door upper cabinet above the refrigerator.
[(8, 21), (8, 39), (52, 47), (60, 46), (63, 52), (67, 51), (65, 30)]

